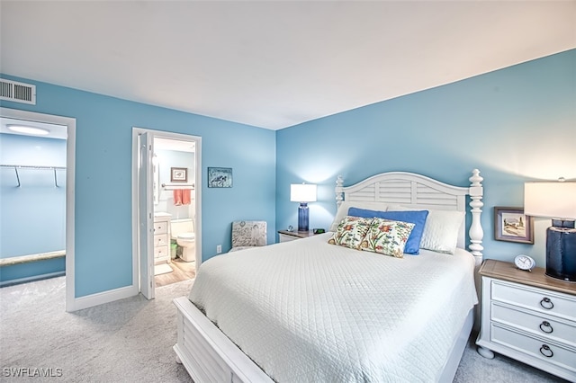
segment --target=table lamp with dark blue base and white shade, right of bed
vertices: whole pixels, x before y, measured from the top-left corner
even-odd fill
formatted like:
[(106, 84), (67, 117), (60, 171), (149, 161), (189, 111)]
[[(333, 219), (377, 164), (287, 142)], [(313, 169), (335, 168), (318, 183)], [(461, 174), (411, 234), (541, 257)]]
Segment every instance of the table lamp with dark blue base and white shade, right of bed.
[(576, 281), (576, 182), (524, 183), (524, 214), (552, 218), (546, 230), (546, 272), (549, 277)]

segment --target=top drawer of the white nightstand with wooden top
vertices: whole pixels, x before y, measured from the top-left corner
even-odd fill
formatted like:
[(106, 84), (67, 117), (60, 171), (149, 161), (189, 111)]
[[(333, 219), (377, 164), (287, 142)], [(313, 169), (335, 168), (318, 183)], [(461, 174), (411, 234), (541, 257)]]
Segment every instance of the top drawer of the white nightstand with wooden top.
[(572, 296), (504, 281), (491, 283), (493, 300), (576, 321), (576, 298)]

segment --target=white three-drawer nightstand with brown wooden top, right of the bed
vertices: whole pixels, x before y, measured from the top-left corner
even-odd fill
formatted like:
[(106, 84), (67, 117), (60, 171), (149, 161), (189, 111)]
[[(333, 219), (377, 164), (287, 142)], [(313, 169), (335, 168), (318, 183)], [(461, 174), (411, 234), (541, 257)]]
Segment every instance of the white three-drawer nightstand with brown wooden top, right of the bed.
[(478, 352), (500, 352), (563, 379), (576, 381), (576, 283), (545, 276), (536, 267), (486, 260)]

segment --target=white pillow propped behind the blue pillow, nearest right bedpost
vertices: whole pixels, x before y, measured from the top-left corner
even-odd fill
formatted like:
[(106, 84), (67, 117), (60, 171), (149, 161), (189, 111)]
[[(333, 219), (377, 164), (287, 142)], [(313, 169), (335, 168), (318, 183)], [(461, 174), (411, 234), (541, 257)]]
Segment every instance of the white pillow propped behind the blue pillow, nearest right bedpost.
[[(391, 205), (388, 211), (422, 210), (401, 205)], [(420, 248), (437, 253), (454, 254), (458, 243), (460, 227), (464, 222), (464, 211), (428, 210), (428, 218), (424, 225)]]

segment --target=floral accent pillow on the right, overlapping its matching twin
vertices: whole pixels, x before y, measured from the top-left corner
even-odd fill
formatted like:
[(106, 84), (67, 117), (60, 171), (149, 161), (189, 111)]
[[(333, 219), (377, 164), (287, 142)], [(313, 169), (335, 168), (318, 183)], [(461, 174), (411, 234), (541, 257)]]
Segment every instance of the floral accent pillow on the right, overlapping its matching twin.
[(361, 249), (403, 258), (404, 246), (414, 227), (415, 225), (410, 222), (374, 218), (361, 243)]

